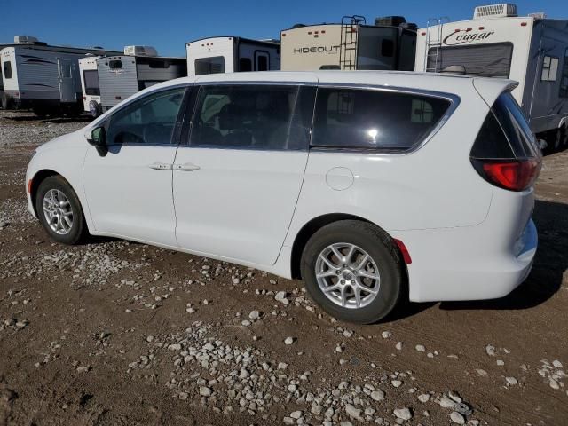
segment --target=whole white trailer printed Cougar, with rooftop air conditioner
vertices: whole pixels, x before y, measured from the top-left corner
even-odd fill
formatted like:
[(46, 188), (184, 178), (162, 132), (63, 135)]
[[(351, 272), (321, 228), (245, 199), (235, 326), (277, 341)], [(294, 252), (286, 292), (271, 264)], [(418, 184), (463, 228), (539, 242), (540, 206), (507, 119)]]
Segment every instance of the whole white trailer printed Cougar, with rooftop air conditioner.
[(537, 137), (550, 149), (568, 143), (568, 20), (492, 4), (473, 20), (430, 23), (418, 30), (416, 71), (516, 80), (513, 96)]

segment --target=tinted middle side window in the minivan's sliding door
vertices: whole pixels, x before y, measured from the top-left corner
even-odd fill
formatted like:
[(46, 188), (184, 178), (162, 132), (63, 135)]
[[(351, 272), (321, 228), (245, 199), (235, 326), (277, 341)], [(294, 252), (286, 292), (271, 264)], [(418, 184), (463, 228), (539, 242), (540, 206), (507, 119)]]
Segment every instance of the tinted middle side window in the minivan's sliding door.
[(296, 86), (201, 87), (190, 145), (238, 149), (300, 149), (288, 145)]

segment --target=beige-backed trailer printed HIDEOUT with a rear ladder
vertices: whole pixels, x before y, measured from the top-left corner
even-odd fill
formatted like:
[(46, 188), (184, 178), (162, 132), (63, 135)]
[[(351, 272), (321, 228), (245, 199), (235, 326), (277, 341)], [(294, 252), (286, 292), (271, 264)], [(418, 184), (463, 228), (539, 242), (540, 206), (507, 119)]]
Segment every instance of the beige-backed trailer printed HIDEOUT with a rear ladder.
[(281, 69), (414, 70), (416, 25), (401, 16), (367, 25), (359, 15), (341, 24), (302, 25), (280, 31)]

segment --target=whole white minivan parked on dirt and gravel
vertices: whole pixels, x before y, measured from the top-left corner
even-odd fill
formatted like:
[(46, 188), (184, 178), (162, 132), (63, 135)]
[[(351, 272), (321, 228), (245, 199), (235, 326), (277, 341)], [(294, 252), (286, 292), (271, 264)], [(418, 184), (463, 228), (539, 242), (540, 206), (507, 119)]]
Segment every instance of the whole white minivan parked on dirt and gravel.
[(36, 150), (51, 238), (106, 235), (304, 280), (338, 319), (507, 295), (537, 248), (540, 151), (508, 80), (236, 73), (141, 91)]

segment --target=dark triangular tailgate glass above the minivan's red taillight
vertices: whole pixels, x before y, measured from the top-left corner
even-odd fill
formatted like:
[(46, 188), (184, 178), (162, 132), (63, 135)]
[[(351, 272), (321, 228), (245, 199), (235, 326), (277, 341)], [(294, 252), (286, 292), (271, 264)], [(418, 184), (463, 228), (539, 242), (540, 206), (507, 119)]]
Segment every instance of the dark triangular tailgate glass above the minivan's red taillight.
[(521, 159), (538, 155), (533, 132), (517, 101), (507, 92), (487, 114), (471, 156), (477, 159)]

